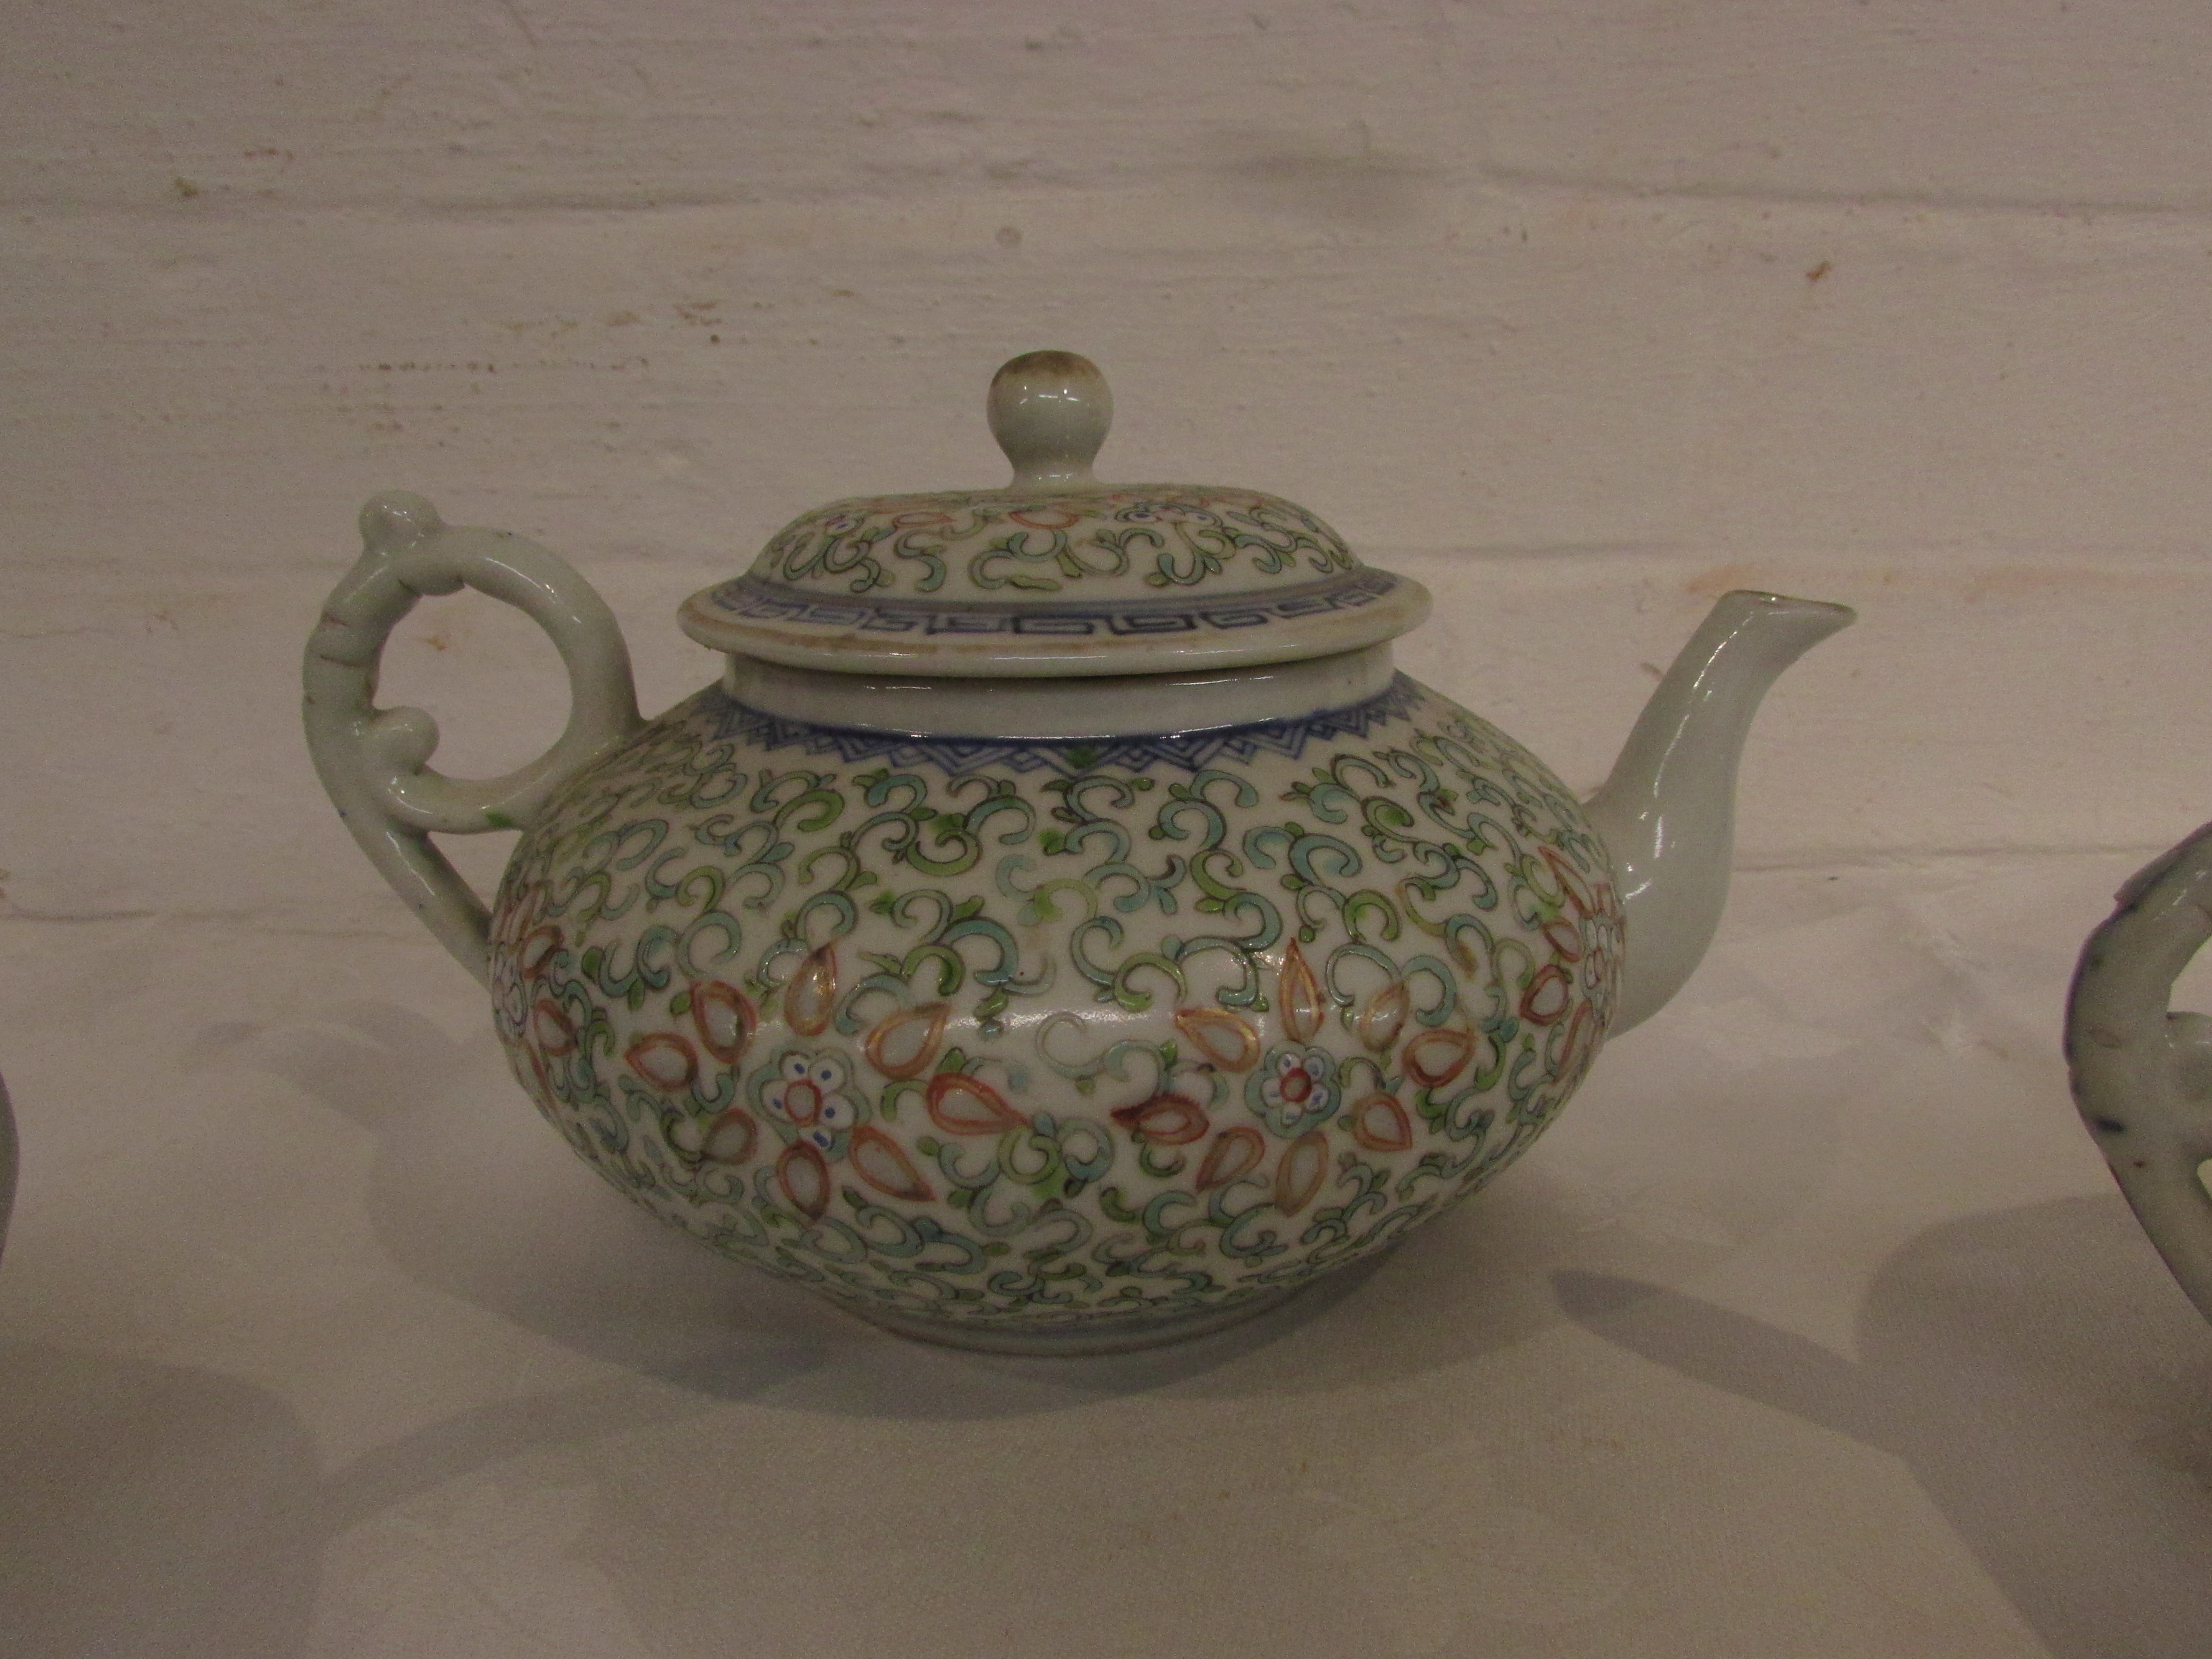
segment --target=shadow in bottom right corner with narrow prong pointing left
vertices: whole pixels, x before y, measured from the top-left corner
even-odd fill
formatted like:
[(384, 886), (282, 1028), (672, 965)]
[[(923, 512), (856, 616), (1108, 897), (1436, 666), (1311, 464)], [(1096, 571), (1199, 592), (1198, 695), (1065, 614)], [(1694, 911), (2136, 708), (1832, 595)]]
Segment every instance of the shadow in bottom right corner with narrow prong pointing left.
[(1900, 1458), (2057, 1659), (2212, 1630), (2212, 1332), (2126, 1203), (1933, 1228), (1876, 1279), (1860, 1360), (1655, 1285), (1555, 1274), (1619, 1347)]

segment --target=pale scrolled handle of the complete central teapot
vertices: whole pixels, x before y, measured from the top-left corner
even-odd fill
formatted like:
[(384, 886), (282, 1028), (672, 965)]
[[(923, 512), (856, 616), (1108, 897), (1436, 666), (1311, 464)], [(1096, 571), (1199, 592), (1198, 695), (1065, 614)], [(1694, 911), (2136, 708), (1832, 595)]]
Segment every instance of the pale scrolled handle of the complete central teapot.
[[(566, 560), (507, 531), (447, 526), (420, 495), (389, 491), (361, 509), (361, 560), (332, 591), (307, 639), (307, 750), (338, 816), (478, 980), (489, 978), (491, 914), (431, 832), (526, 830), (562, 783), (639, 728), (630, 653), (615, 613)], [(385, 639), (425, 593), (462, 584), (524, 611), (568, 668), (568, 728), (500, 779), (449, 779), (427, 761), (438, 721), (376, 708)]]

